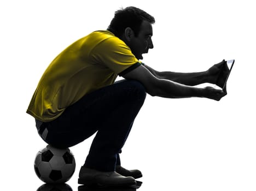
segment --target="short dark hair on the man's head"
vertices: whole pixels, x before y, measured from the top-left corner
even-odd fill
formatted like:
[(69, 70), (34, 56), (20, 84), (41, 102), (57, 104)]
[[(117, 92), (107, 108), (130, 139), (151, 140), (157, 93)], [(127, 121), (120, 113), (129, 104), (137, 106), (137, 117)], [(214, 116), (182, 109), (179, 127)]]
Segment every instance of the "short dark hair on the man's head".
[(110, 22), (107, 30), (120, 38), (121, 35), (123, 35), (125, 28), (130, 27), (135, 33), (135, 37), (137, 37), (143, 20), (152, 24), (155, 23), (154, 17), (146, 13), (144, 10), (136, 7), (126, 7), (125, 9), (121, 8), (115, 11), (114, 18)]

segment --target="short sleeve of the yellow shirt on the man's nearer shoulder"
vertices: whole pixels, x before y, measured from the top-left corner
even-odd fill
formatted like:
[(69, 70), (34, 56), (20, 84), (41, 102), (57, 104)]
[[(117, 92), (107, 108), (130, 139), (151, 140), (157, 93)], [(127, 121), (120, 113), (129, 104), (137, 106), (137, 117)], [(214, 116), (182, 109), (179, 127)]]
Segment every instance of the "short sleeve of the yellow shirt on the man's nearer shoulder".
[(133, 64), (140, 63), (129, 46), (117, 37), (104, 39), (95, 46), (92, 57), (96, 63), (119, 74)]

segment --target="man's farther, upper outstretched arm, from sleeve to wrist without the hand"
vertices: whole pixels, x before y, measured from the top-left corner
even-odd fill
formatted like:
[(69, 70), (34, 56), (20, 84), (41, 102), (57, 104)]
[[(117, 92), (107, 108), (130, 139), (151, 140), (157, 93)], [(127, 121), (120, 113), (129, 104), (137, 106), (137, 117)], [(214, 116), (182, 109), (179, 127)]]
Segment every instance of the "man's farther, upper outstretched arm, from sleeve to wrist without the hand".
[(145, 67), (159, 79), (171, 80), (188, 86), (196, 86), (201, 83), (209, 82), (207, 71), (196, 73), (178, 73), (173, 71), (156, 71), (146, 64)]

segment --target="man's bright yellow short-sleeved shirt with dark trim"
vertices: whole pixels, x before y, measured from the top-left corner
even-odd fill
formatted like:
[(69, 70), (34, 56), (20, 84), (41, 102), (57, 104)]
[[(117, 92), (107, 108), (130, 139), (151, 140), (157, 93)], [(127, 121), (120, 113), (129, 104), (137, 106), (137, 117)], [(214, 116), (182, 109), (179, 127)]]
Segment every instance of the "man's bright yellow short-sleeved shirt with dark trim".
[(112, 85), (118, 74), (139, 64), (131, 49), (113, 33), (92, 32), (68, 46), (51, 62), (38, 83), (27, 113), (43, 122), (52, 121), (85, 94)]

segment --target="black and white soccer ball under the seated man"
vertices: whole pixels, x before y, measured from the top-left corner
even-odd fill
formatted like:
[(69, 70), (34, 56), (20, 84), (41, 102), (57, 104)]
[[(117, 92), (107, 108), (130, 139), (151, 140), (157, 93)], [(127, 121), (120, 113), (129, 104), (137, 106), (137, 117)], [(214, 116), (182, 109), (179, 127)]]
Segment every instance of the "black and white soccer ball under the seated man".
[(65, 183), (75, 171), (75, 159), (69, 148), (47, 145), (34, 160), (34, 171), (45, 183)]

